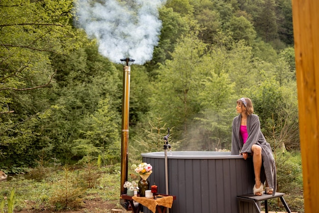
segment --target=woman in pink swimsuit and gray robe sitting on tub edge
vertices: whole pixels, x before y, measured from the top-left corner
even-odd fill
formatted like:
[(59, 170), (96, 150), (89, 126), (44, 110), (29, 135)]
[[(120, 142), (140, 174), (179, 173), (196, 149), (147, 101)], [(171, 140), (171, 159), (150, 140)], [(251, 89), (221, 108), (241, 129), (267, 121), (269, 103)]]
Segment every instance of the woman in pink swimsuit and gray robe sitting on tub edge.
[(272, 149), (265, 140), (261, 129), (259, 117), (255, 114), (252, 101), (249, 98), (237, 100), (236, 112), (239, 114), (232, 122), (231, 154), (248, 155), (253, 157), (255, 184), (254, 195), (262, 195), (263, 183), (265, 193), (276, 193), (276, 165)]

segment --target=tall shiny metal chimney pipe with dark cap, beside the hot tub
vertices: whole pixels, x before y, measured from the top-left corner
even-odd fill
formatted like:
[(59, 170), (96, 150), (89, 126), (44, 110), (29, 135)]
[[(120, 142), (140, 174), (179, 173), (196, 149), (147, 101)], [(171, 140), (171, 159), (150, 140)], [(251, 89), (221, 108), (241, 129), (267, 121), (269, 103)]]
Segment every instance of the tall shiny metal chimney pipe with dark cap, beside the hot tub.
[(129, 81), (130, 81), (130, 65), (134, 61), (135, 61), (134, 59), (129, 59), (129, 58), (121, 59), (121, 62), (123, 64), (121, 195), (126, 194), (124, 183), (125, 181), (127, 181), (127, 170), (128, 170)]

